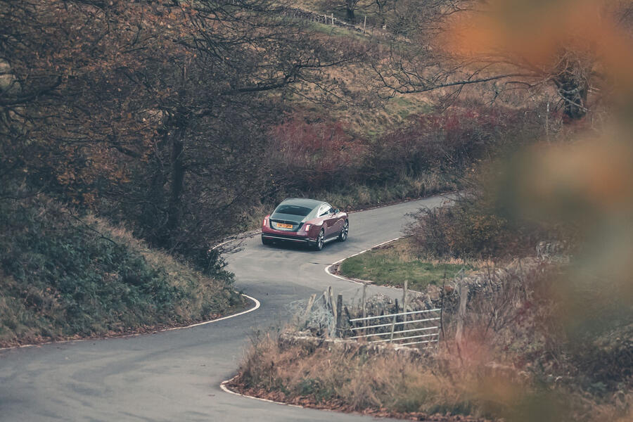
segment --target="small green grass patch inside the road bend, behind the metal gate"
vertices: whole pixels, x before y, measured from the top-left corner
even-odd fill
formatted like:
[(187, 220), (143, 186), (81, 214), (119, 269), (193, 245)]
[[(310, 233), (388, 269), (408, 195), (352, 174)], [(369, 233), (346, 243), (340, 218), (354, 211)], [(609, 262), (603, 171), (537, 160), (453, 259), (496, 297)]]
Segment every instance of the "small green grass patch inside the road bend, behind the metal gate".
[(371, 280), (381, 286), (404, 286), (423, 290), (429, 284), (435, 286), (442, 280), (451, 280), (461, 270), (466, 274), (477, 264), (462, 260), (438, 261), (424, 255), (411, 238), (402, 238), (379, 248), (347, 258), (338, 268), (340, 274), (351, 279)]

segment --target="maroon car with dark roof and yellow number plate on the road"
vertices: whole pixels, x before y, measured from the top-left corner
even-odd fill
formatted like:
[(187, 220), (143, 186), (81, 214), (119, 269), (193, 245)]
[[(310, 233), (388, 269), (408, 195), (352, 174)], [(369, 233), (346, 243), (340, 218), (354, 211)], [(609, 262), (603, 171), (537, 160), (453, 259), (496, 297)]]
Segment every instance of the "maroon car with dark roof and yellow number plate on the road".
[(335, 210), (321, 200), (288, 198), (264, 217), (262, 243), (305, 243), (321, 250), (330, 241), (344, 242), (349, 231), (347, 212)]

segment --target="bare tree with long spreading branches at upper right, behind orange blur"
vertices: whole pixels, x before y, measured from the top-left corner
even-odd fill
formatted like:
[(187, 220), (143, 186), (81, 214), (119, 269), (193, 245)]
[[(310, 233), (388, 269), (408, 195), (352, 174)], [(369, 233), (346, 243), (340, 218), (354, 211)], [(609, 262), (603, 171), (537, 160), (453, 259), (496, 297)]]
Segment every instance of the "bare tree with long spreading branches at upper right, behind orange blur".
[[(461, 56), (439, 42), (454, 26), (449, 18), (456, 13), (489, 13), (474, 1), (438, 0), (418, 8), (414, 30), (407, 39), (395, 40), (388, 60), (376, 57), (373, 69), (383, 96), (441, 90), (449, 98), (458, 96), (464, 87), (487, 84), (496, 98), (503, 91), (554, 87), (560, 108), (570, 120), (587, 114), (588, 94), (601, 84), (595, 52), (590, 47), (561, 45), (550, 60), (533, 60), (521, 51), (490, 49)], [(627, 13), (620, 13), (622, 22)]]

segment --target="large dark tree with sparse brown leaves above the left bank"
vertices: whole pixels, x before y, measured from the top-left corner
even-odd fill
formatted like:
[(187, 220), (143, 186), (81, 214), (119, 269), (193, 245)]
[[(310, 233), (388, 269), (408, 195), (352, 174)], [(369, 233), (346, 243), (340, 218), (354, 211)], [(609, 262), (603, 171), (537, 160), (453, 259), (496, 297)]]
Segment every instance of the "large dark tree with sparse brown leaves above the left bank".
[(3, 182), (190, 256), (264, 191), (283, 98), (340, 95), (324, 70), (362, 54), (267, 0), (0, 0), (0, 17)]

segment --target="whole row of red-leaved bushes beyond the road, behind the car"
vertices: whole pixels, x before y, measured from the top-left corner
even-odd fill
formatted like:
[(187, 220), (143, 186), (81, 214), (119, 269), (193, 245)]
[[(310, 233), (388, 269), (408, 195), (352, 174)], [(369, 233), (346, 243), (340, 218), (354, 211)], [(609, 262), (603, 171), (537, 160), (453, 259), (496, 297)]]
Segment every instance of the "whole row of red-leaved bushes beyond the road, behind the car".
[(539, 109), (462, 103), (371, 140), (354, 136), (343, 122), (295, 113), (271, 129), (266, 162), (272, 185), (285, 192), (386, 186), (425, 174), (459, 183), (478, 160), (539, 139), (545, 121)]

